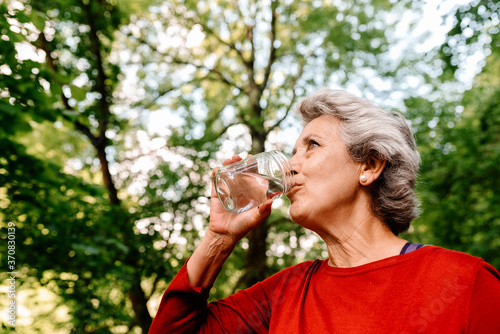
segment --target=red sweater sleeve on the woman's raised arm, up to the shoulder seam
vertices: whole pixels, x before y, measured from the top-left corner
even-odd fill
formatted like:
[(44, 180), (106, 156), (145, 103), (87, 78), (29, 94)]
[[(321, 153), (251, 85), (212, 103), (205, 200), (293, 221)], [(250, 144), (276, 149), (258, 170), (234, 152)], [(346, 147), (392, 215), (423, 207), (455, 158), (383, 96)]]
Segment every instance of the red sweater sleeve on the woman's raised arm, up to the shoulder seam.
[(192, 287), (184, 264), (165, 291), (149, 334), (267, 333), (271, 298), (268, 291), (279, 282), (275, 276), (207, 304), (212, 286)]

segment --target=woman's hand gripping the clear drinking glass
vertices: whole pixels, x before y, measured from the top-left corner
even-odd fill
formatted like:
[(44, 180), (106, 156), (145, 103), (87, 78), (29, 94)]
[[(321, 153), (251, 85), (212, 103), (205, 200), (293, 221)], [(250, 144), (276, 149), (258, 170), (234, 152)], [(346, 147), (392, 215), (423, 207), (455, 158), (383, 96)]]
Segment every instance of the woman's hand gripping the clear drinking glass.
[[(242, 158), (234, 155), (224, 161), (224, 166), (241, 161)], [(218, 168), (212, 172), (212, 193), (210, 196), (210, 224), (209, 233), (224, 237), (226, 242), (235, 245), (241, 238), (255, 227), (259, 226), (271, 214), (272, 200), (267, 200), (258, 208), (251, 209), (241, 214), (233, 214), (224, 209), (217, 198), (214, 186), (214, 176)]]

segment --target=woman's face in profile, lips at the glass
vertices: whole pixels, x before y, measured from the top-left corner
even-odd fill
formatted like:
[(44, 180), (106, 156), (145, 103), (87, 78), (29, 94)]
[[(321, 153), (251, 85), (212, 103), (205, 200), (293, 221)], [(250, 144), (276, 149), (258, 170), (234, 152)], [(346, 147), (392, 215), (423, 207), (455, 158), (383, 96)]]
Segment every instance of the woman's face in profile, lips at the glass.
[(328, 221), (349, 217), (360, 196), (361, 164), (338, 135), (339, 120), (323, 115), (302, 131), (290, 160), (296, 185), (287, 193), (292, 221), (321, 232)]

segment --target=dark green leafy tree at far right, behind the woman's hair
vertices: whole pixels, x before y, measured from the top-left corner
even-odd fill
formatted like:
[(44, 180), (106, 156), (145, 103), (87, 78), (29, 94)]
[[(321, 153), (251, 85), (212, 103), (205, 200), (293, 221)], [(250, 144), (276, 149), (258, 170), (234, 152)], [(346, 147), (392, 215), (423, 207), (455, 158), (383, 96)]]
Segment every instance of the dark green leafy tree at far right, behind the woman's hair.
[[(499, 4), (472, 1), (453, 9), (453, 28), (439, 48), (446, 90), (432, 100), (407, 100), (422, 148), (424, 213), (417, 234), (428, 243), (465, 251), (500, 267), (498, 168), (500, 130)], [(471, 86), (463, 72), (484, 58)], [(442, 88), (442, 86), (441, 86)], [(451, 89), (450, 89), (451, 88)], [(455, 93), (450, 91), (455, 89)]]

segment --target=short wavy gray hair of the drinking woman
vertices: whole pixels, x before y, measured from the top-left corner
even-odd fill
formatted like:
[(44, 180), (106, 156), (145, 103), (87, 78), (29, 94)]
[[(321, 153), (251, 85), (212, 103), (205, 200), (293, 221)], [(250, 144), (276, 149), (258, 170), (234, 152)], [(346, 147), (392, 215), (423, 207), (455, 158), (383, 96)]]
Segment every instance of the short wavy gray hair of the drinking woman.
[(297, 109), (304, 124), (322, 115), (339, 119), (339, 135), (354, 161), (387, 162), (372, 189), (371, 208), (395, 235), (408, 230), (420, 213), (415, 194), (420, 154), (404, 117), (328, 88), (303, 99)]

